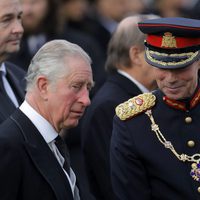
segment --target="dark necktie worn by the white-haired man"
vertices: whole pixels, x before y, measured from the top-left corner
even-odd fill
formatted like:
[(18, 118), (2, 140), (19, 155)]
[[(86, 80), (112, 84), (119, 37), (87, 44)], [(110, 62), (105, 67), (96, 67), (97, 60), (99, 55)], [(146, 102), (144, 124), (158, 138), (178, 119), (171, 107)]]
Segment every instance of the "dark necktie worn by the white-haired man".
[(60, 154), (65, 159), (63, 168), (64, 170), (70, 174), (70, 157), (69, 157), (69, 151), (67, 149), (67, 145), (65, 144), (64, 140), (58, 135), (55, 140), (55, 145), (57, 146)]

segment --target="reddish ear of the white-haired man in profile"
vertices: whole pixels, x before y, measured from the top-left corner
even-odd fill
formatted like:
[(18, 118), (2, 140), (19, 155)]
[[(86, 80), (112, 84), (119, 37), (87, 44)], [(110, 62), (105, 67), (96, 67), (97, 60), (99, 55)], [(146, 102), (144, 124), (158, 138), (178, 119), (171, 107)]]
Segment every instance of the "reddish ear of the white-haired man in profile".
[(44, 100), (48, 99), (49, 81), (45, 76), (39, 76), (37, 78), (37, 89)]

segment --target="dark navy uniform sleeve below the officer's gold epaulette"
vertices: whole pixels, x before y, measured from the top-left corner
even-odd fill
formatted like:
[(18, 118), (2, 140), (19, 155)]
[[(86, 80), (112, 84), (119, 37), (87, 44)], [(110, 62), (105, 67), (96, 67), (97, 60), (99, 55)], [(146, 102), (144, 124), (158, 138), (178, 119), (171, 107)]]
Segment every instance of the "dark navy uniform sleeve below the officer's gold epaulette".
[[(129, 122), (130, 123), (130, 122)], [(115, 116), (110, 147), (111, 180), (119, 200), (149, 200), (151, 190), (145, 165), (135, 149), (127, 122)]]

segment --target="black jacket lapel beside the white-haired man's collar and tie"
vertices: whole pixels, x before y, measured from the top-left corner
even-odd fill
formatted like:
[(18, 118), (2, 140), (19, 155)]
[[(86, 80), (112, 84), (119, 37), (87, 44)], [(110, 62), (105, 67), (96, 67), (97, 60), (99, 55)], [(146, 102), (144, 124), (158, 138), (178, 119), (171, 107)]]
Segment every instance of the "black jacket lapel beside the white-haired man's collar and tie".
[(17, 110), (11, 119), (20, 128), (25, 139), (25, 149), (37, 170), (53, 189), (57, 199), (72, 200), (73, 196), (68, 179), (36, 127), (20, 110)]

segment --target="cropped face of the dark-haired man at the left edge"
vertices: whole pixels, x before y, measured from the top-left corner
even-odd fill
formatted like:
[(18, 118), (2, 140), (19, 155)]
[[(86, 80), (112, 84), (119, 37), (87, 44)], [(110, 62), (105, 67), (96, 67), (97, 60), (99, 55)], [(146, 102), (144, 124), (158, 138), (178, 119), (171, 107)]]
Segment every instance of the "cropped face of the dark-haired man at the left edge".
[(23, 34), (19, 0), (0, 0), (0, 61), (20, 48)]

